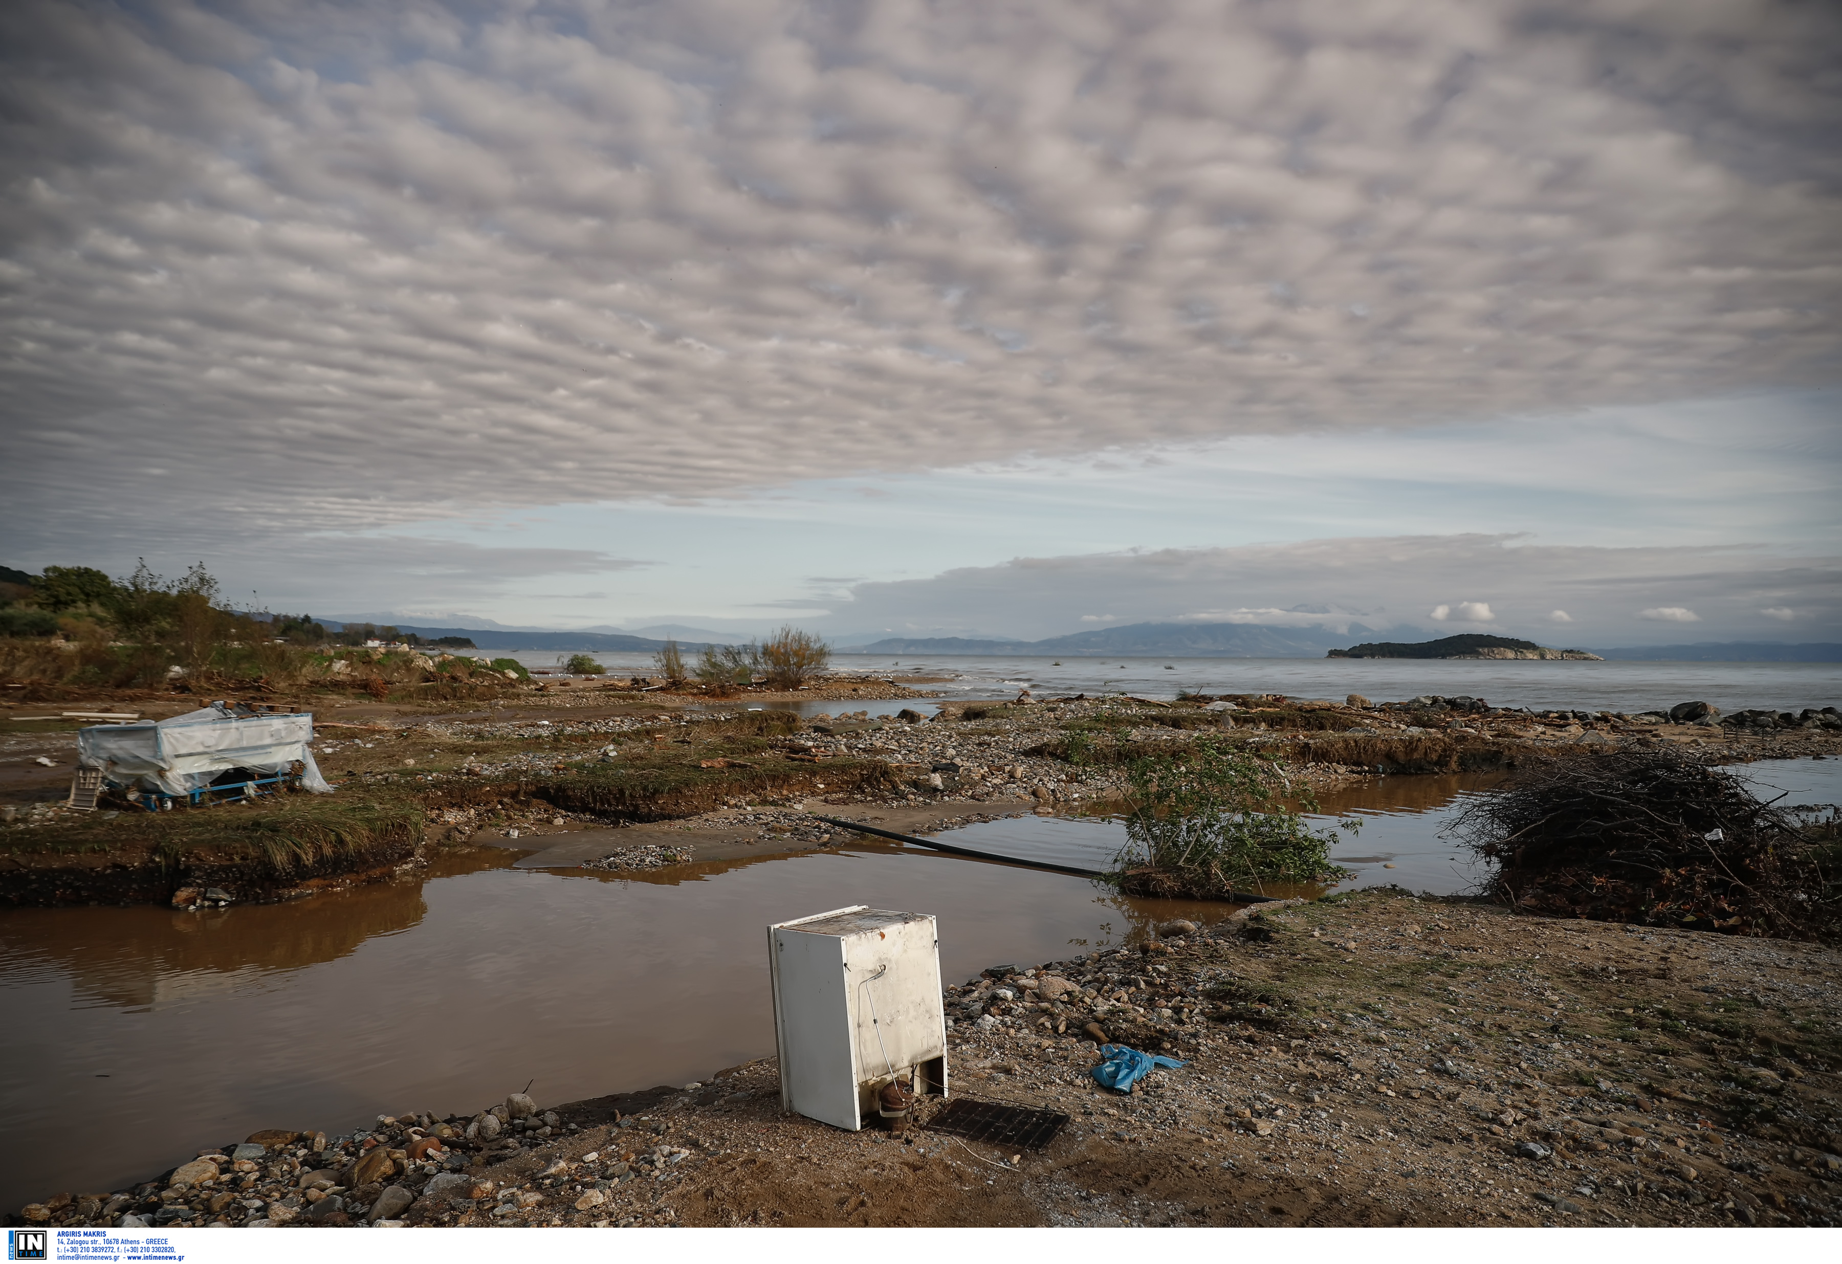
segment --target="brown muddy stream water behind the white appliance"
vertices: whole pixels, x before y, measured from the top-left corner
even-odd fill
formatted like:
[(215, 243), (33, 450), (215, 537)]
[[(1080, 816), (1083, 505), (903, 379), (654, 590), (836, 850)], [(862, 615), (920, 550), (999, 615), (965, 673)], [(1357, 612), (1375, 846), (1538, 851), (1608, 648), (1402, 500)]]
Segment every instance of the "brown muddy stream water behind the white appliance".
[[(1754, 770), (1790, 802), (1842, 798), (1835, 761)], [(1488, 785), (1387, 778), (1326, 800), (1365, 822), (1335, 853), (1348, 884), (1470, 888), (1439, 829)], [(1020, 816), (943, 840), (1100, 868), (1124, 829)], [(1230, 912), (871, 840), (637, 875), (519, 855), (451, 853), (289, 905), (0, 910), (0, 1205), (123, 1188), (260, 1128), (472, 1111), (527, 1082), (556, 1104), (707, 1078), (774, 1052), (764, 927), (825, 908), (936, 914), (947, 982)]]

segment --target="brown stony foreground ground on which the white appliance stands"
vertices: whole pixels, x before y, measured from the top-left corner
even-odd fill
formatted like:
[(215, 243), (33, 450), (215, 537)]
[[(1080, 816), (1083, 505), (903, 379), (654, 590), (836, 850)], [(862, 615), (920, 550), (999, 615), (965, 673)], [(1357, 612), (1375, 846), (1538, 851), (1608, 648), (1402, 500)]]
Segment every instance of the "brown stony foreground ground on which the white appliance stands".
[[(1363, 892), (947, 989), (1041, 1152), (845, 1133), (772, 1059), (538, 1111), (256, 1133), (55, 1225), (1833, 1225), (1838, 951)], [(1102, 1089), (1083, 1028), (1186, 1059)], [(488, 1122), (490, 1118), (490, 1122)]]

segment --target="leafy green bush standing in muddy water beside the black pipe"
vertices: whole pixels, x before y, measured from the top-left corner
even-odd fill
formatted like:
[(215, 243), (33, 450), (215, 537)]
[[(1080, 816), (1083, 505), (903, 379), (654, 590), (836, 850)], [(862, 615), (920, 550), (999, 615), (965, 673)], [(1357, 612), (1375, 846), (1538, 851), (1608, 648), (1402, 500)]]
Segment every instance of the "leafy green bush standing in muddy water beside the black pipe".
[[(1306, 825), (1310, 792), (1284, 785), (1278, 768), (1219, 739), (1135, 759), (1127, 770), (1125, 833), (1114, 881), (1131, 895), (1227, 899), (1262, 883), (1341, 877), (1330, 862), (1337, 837)], [(1293, 800), (1291, 805), (1286, 798)], [(1343, 822), (1354, 831), (1358, 822)]]

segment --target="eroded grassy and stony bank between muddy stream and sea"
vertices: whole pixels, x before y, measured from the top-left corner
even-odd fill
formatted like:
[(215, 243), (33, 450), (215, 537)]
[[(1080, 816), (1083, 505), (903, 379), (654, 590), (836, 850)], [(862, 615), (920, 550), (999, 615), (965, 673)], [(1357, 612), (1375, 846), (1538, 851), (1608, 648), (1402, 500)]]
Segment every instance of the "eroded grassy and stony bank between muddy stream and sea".
[[(766, 855), (844, 842), (807, 809), (897, 811), (899, 822), (882, 824), (912, 833), (923, 818), (1103, 803), (1127, 763), (1199, 735), (1271, 754), (1319, 789), (1658, 744), (1709, 763), (1842, 752), (1842, 722), (1816, 711), (1748, 711), (1744, 722), (1700, 711), (1678, 722), (1503, 711), (1475, 698), (1076, 696), (943, 704), (921, 722), (847, 709), (862, 687), (899, 689), (834, 685), (838, 715), (812, 719), (604, 687), (473, 711), (346, 704), (322, 717), (315, 743), (339, 787), (332, 796), (160, 814), (72, 813), (42, 798), (9, 807), (0, 903), (273, 903), (387, 879), (451, 846), (549, 851), (558, 833), (573, 835), (567, 849), (521, 864), (621, 870)], [(6, 741), (11, 757), (68, 783), (72, 726)]]

